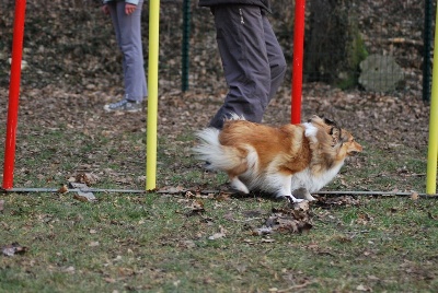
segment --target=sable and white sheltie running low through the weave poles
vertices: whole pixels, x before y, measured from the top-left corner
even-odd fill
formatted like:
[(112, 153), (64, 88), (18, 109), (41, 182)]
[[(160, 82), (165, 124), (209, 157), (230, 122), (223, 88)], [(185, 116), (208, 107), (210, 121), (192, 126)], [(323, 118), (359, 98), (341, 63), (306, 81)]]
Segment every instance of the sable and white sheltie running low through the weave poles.
[(347, 130), (318, 116), (274, 128), (234, 115), (222, 130), (207, 128), (197, 137), (198, 159), (208, 162), (208, 168), (226, 172), (233, 188), (293, 202), (315, 200), (311, 192), (330, 183), (347, 156), (362, 151)]

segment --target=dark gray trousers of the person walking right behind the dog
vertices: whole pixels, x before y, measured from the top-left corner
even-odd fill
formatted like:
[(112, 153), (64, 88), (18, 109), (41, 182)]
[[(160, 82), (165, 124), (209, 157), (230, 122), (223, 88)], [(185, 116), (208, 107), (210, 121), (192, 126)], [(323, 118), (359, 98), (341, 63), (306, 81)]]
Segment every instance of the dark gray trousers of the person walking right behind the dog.
[(232, 113), (261, 122), (285, 78), (281, 47), (260, 7), (217, 5), (211, 11), (229, 92), (210, 126), (221, 129)]

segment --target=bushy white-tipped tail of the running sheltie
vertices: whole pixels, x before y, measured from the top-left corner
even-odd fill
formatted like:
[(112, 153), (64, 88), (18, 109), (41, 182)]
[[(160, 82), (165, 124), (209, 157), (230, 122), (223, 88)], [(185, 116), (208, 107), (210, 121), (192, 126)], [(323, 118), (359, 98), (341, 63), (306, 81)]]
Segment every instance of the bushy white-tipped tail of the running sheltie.
[(216, 128), (196, 132), (199, 144), (193, 148), (193, 152), (199, 160), (206, 162), (207, 168), (227, 172), (240, 166), (246, 159), (235, 148), (220, 144), (219, 133), (220, 130)]

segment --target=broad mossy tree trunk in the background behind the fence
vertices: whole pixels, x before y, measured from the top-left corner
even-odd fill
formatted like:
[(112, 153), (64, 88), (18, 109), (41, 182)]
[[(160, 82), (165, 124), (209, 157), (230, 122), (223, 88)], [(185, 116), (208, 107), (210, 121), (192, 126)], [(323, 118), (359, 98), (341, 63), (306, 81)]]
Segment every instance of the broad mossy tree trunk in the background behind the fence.
[(311, 0), (304, 46), (304, 81), (355, 86), (368, 55), (349, 0)]

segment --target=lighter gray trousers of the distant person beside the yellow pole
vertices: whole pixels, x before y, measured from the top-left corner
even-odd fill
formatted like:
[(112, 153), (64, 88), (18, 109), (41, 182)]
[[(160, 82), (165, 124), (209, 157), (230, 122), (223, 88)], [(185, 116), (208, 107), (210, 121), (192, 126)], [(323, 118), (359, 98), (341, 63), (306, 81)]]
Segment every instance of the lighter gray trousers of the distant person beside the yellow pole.
[(108, 3), (117, 45), (123, 54), (125, 98), (138, 102), (148, 95), (141, 44), (142, 4), (143, 2), (140, 1), (136, 11), (130, 15), (126, 15), (124, 1)]

